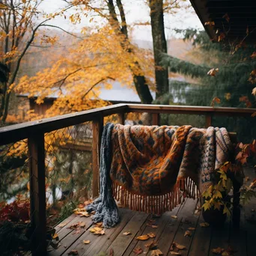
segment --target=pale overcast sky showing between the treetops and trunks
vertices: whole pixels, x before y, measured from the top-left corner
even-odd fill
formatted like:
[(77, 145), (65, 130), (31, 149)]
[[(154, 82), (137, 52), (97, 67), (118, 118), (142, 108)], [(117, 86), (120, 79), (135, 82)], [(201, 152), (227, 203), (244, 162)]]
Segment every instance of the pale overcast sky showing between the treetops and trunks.
[[(144, 4), (144, 0), (123, 0), (124, 9), (126, 12), (127, 23), (132, 24), (134, 22), (146, 22), (150, 20), (149, 17), (149, 8)], [(54, 13), (56, 10), (59, 10), (61, 7), (64, 7), (64, 1), (61, 0), (44, 0), (41, 8), (47, 13)], [(71, 12), (70, 12), (71, 14)], [(79, 32), (82, 27), (90, 25), (93, 26), (93, 22), (89, 22), (89, 19), (82, 19), (80, 24), (73, 25), (69, 22), (68, 19), (59, 17), (55, 19), (51, 24), (59, 25), (61, 28), (64, 28), (68, 31)], [(95, 24), (99, 24), (100, 19), (95, 19)], [(168, 38), (176, 37), (174, 33), (174, 28), (201, 28), (200, 20), (194, 11), (188, 10), (178, 10), (175, 14), (165, 15), (165, 35)], [(135, 26), (132, 31), (132, 37), (135, 40), (152, 40), (150, 26)]]

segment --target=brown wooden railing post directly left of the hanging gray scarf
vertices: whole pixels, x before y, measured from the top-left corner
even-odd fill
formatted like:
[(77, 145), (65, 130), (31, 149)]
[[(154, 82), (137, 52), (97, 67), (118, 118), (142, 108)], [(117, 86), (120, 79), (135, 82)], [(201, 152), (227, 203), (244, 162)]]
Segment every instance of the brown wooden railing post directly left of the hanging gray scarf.
[(93, 180), (92, 180), (92, 193), (93, 198), (99, 195), (99, 182), (100, 182), (100, 139), (103, 132), (103, 117), (99, 116), (97, 120), (93, 121)]

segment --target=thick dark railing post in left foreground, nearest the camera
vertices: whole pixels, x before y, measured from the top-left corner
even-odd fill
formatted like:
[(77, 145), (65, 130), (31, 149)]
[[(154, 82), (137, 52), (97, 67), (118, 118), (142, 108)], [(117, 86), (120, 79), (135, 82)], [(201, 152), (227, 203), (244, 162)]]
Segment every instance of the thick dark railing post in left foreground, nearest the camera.
[(46, 255), (46, 179), (44, 134), (28, 138), (32, 255)]

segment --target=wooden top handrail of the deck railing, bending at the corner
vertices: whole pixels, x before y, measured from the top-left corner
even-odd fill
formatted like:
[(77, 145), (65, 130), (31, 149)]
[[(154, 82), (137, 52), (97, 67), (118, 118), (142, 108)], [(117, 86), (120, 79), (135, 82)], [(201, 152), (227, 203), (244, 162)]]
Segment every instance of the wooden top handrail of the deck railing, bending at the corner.
[(98, 117), (118, 114), (122, 112), (150, 112), (169, 114), (190, 115), (227, 115), (249, 117), (256, 109), (239, 108), (213, 108), (207, 106), (166, 106), (166, 105), (144, 105), (144, 104), (117, 104), (99, 109), (91, 109), (75, 112), (67, 115), (58, 115), (53, 118), (44, 118), (9, 127), (0, 128), (0, 145), (28, 138), (31, 134), (38, 132), (51, 132), (55, 129), (70, 127), (86, 121), (96, 120)]

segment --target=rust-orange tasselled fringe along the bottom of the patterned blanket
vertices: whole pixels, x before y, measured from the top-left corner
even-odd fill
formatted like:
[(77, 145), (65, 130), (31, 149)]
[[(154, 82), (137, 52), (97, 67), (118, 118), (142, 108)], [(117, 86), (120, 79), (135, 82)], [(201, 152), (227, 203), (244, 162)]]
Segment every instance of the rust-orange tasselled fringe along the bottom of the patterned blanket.
[(120, 202), (122, 207), (153, 214), (171, 211), (181, 204), (185, 198), (200, 198), (198, 186), (189, 177), (178, 180), (172, 191), (163, 195), (138, 195), (129, 192), (117, 183), (112, 183), (112, 192), (114, 198)]

